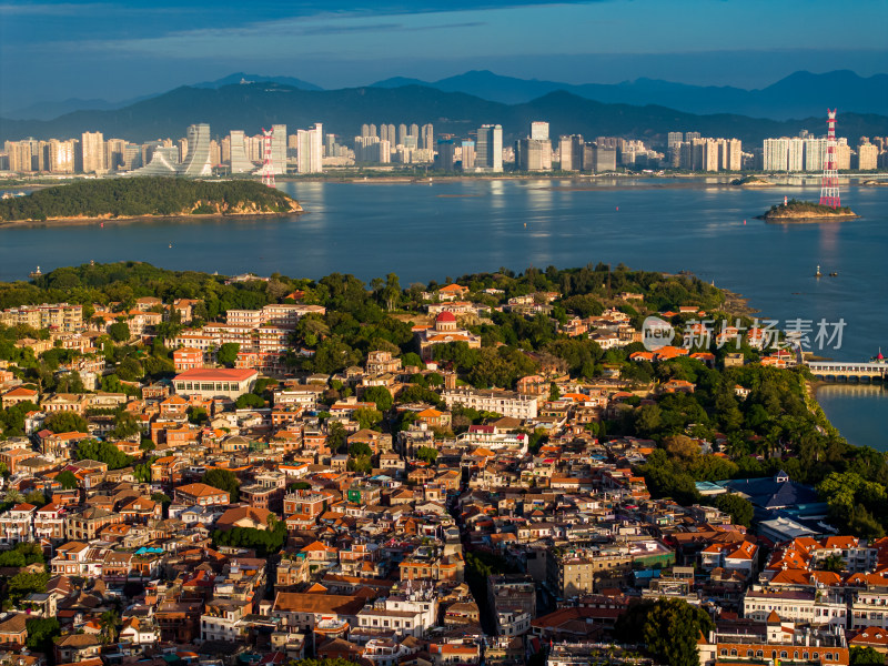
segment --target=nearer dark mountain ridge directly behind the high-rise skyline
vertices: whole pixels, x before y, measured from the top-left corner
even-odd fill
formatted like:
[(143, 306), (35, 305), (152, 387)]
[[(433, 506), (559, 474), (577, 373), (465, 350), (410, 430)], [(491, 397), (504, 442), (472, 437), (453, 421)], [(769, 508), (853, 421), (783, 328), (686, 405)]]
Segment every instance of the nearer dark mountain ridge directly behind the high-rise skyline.
[[(698, 131), (705, 137), (738, 138), (759, 142), (766, 137), (797, 134), (806, 129), (826, 131), (825, 113), (804, 120), (760, 120), (737, 114), (698, 115), (660, 105), (605, 104), (565, 91), (549, 92), (529, 102), (505, 104), (463, 92), (444, 92), (422, 85), (303, 90), (280, 83), (183, 87), (123, 109), (75, 111), (48, 121), (0, 121), (0, 139), (17, 140), (79, 137), (101, 131), (135, 142), (183, 137), (185, 128), (209, 122), (213, 135), (231, 130), (256, 133), (262, 127), (286, 123), (289, 130), (324, 123), (325, 132), (344, 142), (360, 133), (364, 122), (432, 122), (437, 133), (466, 137), (484, 123), (501, 123), (505, 139), (526, 135), (533, 120), (547, 120), (551, 135), (582, 133), (624, 135), (665, 143), (669, 131)], [(888, 117), (841, 113), (839, 134), (855, 142), (860, 135), (888, 133)]]

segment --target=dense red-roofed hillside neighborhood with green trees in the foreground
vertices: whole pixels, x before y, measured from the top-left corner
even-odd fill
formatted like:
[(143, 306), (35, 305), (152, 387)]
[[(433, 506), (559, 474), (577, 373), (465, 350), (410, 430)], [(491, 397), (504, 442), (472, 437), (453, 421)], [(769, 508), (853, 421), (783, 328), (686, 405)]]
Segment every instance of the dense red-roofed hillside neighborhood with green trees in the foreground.
[(0, 285), (0, 663), (885, 662), (885, 455), (710, 285), (149, 269)]

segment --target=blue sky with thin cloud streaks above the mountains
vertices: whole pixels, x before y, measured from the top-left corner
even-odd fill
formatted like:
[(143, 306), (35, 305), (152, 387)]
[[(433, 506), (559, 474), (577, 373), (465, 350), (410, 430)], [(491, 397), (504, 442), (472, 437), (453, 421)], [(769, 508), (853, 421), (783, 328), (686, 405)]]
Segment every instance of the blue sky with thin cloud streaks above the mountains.
[(757, 88), (800, 69), (888, 71), (887, 23), (885, 0), (0, 0), (0, 95), (117, 101), (234, 71), (324, 88), (470, 69)]

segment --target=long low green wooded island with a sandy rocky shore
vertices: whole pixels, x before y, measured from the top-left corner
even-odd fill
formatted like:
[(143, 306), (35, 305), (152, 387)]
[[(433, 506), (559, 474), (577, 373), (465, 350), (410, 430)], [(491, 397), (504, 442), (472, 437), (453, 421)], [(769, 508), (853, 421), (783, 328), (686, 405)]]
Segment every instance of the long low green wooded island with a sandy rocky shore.
[(80, 181), (0, 201), (0, 223), (301, 212), (296, 200), (255, 181), (162, 176)]

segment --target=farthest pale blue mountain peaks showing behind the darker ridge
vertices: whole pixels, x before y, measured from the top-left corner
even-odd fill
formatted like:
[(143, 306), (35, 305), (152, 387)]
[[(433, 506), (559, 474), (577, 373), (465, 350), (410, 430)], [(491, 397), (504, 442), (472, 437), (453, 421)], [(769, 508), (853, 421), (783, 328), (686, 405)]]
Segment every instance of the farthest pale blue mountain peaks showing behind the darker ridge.
[[(244, 72), (235, 72), (215, 81), (194, 83), (191, 88), (218, 89), (242, 81), (280, 83), (300, 90), (323, 90), (314, 83), (293, 77), (265, 77)], [(688, 113), (734, 113), (775, 120), (823, 115), (826, 107), (838, 107), (840, 115), (848, 112), (888, 114), (888, 74), (864, 78), (848, 70), (823, 74), (795, 72), (761, 90), (744, 90), (727, 85), (689, 85), (655, 79), (636, 79), (615, 84), (575, 85), (557, 81), (502, 77), (486, 70), (470, 71), (438, 81), (397, 77), (377, 81), (369, 88), (392, 89), (405, 85), (463, 92), (504, 104), (526, 103), (551, 92), (565, 91), (604, 103), (657, 104)], [(19, 120), (50, 120), (72, 111), (122, 109), (152, 97), (159, 95), (141, 95), (119, 102), (98, 99), (48, 101), (23, 109), (4, 110), (2, 115)]]

